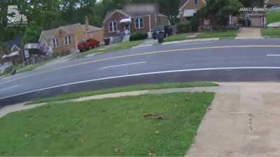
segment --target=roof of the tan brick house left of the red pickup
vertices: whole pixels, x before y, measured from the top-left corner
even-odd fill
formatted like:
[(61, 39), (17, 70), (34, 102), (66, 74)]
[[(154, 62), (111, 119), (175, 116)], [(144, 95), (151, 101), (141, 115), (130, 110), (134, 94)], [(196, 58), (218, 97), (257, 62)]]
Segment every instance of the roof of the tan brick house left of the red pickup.
[[(80, 23), (70, 24), (70, 25), (58, 27), (56, 29), (48, 29), (48, 30), (42, 31), (39, 40), (41, 40), (42, 36), (45, 36), (45, 38), (47, 38), (47, 39), (53, 38), (53, 36), (55, 36), (55, 33), (57, 33), (57, 31), (59, 29), (62, 29), (63, 31), (66, 31), (67, 34), (73, 34), (73, 32), (75, 31), (75, 29), (77, 27), (80, 27), (80, 28), (82, 28), (85, 31), (85, 24), (80, 24)], [(92, 25), (89, 25), (88, 28), (89, 28), (88, 31), (99, 31), (99, 30), (102, 30), (101, 28), (94, 27)]]

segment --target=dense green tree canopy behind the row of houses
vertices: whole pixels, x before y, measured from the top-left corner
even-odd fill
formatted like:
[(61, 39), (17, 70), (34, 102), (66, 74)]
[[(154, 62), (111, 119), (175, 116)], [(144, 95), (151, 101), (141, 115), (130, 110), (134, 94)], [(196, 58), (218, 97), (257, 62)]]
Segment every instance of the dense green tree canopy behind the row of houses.
[[(208, 0), (207, 11), (210, 15), (218, 15), (223, 22), (228, 13), (235, 13), (238, 0)], [(214, 3), (218, 1), (218, 3)], [(249, 5), (255, 0), (240, 0)], [(258, 0), (261, 1), (261, 0)], [(174, 24), (179, 13), (180, 0), (1, 0), (0, 1), (0, 44), (18, 36), (23, 36), (23, 44), (38, 40), (41, 30), (53, 29), (66, 24), (84, 23), (85, 15), (90, 24), (102, 27), (107, 11), (122, 8), (127, 3), (155, 3), (160, 12), (169, 16)], [(226, 5), (230, 6), (226, 6)], [(17, 5), (21, 13), (28, 19), (27, 27), (7, 27), (7, 7)]]

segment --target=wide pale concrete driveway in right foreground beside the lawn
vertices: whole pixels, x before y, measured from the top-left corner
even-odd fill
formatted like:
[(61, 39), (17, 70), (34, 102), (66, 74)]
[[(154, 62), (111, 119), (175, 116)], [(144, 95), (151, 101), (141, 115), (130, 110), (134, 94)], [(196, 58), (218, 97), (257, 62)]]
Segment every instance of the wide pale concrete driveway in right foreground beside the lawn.
[(221, 86), (188, 156), (280, 156), (280, 83)]

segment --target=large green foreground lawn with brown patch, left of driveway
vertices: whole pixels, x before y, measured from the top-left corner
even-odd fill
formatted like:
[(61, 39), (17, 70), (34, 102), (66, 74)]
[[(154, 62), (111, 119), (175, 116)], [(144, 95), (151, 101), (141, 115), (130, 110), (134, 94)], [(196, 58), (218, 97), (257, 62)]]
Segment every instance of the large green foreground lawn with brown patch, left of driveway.
[[(0, 156), (184, 156), (213, 93), (51, 104), (0, 119)], [(164, 119), (146, 119), (145, 114)]]

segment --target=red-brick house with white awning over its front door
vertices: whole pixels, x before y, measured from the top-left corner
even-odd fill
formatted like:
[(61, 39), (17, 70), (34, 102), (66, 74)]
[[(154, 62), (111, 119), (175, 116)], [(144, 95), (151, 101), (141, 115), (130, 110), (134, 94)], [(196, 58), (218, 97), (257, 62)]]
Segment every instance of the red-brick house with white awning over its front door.
[(130, 5), (106, 14), (103, 22), (104, 36), (118, 36), (136, 31), (148, 33), (156, 25), (168, 24), (168, 17), (159, 13), (155, 5)]

